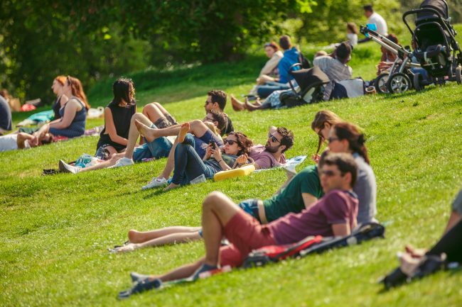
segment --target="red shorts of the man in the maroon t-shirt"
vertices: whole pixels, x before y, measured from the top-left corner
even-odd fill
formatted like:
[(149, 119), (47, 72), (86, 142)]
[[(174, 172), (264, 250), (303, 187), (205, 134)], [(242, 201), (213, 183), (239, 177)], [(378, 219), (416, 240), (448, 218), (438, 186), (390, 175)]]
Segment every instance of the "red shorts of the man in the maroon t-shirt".
[(220, 248), (222, 266), (240, 267), (252, 250), (276, 244), (269, 228), (242, 210), (225, 225), (225, 236), (232, 244)]

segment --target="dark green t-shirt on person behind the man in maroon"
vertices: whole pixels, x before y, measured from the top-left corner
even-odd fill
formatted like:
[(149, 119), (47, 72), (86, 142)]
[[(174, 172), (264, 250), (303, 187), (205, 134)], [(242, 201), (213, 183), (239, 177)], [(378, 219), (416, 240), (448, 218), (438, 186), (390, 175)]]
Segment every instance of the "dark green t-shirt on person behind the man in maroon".
[(318, 167), (310, 165), (296, 174), (281, 193), (263, 201), (267, 221), (271, 222), (285, 216), (287, 213), (299, 213), (305, 208), (302, 193), (308, 193), (321, 199), (323, 189), (319, 181)]

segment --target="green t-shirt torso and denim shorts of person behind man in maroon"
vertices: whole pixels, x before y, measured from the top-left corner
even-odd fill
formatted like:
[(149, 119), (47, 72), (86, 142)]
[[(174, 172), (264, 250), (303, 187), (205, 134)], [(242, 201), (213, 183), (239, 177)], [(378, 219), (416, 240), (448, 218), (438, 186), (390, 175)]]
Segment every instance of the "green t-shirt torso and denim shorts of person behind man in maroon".
[(318, 167), (310, 165), (270, 199), (248, 199), (239, 203), (240, 208), (257, 218), (261, 223), (269, 223), (287, 213), (299, 213), (323, 196), (319, 181)]

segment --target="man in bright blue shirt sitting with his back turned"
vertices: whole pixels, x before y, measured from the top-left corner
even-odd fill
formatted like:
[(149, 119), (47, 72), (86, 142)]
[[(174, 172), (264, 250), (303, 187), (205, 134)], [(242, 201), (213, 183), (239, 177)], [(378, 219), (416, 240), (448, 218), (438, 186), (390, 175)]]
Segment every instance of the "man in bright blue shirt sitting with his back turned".
[[(288, 35), (282, 35), (279, 38), (279, 45), (284, 50), (284, 57), (279, 61), (279, 79), (274, 79), (274, 82), (267, 82), (264, 85), (260, 85), (257, 88), (257, 94), (260, 98), (266, 98), (273, 91), (281, 89), (290, 89), (287, 79), (287, 73), (289, 68), (295, 63), (299, 62), (299, 50), (292, 47), (291, 39)], [(299, 67), (295, 67), (294, 70), (298, 70)]]

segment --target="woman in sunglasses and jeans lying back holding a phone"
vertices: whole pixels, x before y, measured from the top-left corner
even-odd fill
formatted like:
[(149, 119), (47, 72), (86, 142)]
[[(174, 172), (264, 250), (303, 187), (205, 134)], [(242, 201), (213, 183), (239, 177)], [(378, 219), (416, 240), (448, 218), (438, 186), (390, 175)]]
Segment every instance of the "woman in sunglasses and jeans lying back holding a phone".
[[(243, 133), (232, 132), (223, 140), (222, 149), (216, 143), (210, 143), (203, 159), (194, 150), (194, 138), (188, 134), (189, 123), (181, 125), (178, 133), (178, 145), (175, 149), (175, 170), (172, 182), (166, 190), (176, 188), (181, 184), (188, 184), (191, 180), (204, 175), (213, 178), (220, 171), (227, 171), (235, 167), (237, 157), (249, 155), (252, 140)], [(223, 151), (223, 152), (222, 152)]]

